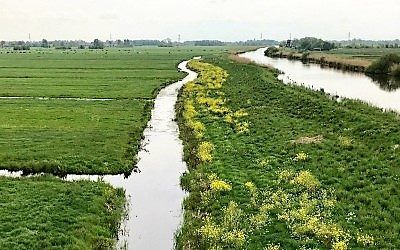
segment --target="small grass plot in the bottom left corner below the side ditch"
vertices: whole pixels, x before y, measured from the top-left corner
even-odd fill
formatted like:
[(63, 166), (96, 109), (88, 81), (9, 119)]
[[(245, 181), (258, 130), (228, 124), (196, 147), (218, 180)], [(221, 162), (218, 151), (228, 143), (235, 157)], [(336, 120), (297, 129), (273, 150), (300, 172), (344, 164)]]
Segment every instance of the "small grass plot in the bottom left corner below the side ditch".
[(0, 178), (0, 249), (112, 249), (125, 195), (101, 182)]

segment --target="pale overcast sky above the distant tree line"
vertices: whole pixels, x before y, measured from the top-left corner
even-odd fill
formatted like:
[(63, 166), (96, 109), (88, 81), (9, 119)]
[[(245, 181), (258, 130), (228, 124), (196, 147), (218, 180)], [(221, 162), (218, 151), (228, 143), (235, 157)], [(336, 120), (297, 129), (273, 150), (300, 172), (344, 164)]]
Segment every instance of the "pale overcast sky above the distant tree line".
[(400, 39), (400, 0), (0, 0), (0, 40)]

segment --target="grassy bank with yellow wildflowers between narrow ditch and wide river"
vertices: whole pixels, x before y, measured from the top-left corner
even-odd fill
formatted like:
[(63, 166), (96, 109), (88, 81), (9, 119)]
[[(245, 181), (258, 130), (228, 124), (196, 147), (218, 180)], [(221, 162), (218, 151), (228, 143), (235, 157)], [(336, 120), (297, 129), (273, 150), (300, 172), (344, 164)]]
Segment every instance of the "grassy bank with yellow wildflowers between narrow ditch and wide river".
[(400, 247), (398, 115), (205, 61), (178, 105), (190, 167), (178, 249)]

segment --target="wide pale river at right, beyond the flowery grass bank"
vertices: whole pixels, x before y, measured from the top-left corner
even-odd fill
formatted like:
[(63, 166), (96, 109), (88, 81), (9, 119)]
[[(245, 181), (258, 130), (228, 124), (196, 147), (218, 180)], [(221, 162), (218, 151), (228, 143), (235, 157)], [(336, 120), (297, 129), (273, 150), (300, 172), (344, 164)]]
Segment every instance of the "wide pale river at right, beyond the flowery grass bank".
[(279, 79), (285, 83), (302, 84), (316, 90), (359, 99), (385, 110), (400, 112), (400, 81), (393, 78), (371, 78), (363, 73), (344, 72), (321, 67), (318, 64), (304, 64), (285, 58), (264, 56), (266, 48), (247, 52), (241, 57), (258, 64), (271, 65), (284, 72)]

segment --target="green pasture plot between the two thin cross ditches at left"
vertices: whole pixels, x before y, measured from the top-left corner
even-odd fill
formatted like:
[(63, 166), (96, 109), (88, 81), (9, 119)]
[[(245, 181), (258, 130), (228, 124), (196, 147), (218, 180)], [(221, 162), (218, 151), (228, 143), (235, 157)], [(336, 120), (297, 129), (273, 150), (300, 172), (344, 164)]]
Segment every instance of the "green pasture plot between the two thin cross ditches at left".
[(150, 102), (1, 100), (0, 168), (130, 173)]

